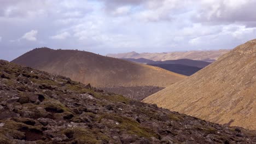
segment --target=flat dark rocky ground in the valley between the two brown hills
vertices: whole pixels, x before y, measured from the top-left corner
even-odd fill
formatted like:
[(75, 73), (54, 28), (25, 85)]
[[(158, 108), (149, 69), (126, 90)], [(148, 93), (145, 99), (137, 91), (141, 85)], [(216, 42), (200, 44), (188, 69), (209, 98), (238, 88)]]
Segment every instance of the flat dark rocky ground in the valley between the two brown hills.
[(144, 86), (144, 87), (104, 87), (104, 91), (121, 94), (127, 98), (143, 100), (149, 95), (164, 89), (163, 87)]

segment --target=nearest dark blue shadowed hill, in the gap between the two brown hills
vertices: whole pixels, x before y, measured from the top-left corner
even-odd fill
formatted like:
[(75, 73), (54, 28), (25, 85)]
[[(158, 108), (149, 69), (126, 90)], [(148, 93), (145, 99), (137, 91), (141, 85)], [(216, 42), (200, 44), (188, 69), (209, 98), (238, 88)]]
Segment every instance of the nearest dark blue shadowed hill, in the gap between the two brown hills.
[(182, 65), (182, 64), (149, 64), (149, 65), (166, 69), (177, 74), (187, 75), (187, 76), (193, 75), (197, 71), (202, 69), (202, 68), (190, 67), (188, 65)]

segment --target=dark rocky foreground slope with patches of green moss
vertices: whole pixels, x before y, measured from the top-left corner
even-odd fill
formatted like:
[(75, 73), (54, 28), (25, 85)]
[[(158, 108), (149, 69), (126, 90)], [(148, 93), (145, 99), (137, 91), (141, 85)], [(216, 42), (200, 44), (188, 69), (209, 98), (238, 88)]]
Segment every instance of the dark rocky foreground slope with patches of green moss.
[(0, 143), (256, 143), (256, 131), (0, 61)]

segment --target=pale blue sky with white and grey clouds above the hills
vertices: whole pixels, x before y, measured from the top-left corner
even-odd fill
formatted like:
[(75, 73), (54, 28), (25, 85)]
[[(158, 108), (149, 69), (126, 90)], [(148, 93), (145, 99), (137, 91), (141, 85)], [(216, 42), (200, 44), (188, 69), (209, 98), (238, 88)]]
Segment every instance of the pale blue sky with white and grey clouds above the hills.
[(0, 59), (36, 47), (106, 55), (232, 49), (256, 38), (256, 0), (0, 0)]

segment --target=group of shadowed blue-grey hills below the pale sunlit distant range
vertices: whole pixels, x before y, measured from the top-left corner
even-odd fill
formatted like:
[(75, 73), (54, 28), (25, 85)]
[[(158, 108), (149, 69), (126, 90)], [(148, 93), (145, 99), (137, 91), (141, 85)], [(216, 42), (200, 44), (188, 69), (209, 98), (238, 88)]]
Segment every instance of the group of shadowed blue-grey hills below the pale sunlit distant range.
[(196, 71), (206, 67), (211, 64), (210, 62), (204, 61), (195, 61), (191, 59), (177, 59), (177, 60), (168, 60), (168, 61), (152, 61), (146, 58), (122, 58), (126, 61), (143, 63), (148, 65), (153, 65), (155, 67), (160, 67), (166, 70), (170, 70), (174, 73), (182, 75), (193, 75)]

